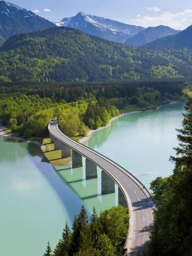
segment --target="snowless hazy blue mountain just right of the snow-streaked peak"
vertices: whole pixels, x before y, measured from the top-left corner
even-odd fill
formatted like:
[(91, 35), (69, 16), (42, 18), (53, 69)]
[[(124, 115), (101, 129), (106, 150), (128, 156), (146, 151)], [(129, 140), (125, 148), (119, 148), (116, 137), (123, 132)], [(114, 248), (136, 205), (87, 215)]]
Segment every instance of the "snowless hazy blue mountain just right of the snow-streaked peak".
[(142, 30), (140, 33), (136, 34), (135, 36), (127, 39), (125, 43), (133, 46), (142, 46), (156, 39), (175, 35), (179, 32), (180, 31), (178, 30), (162, 25), (158, 27), (148, 27)]

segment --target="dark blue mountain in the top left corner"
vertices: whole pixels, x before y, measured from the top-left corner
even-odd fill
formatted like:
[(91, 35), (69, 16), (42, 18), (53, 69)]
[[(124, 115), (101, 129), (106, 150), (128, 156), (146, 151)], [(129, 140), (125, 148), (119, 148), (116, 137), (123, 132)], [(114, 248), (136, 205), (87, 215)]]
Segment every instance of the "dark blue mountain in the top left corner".
[(55, 26), (30, 10), (0, 1), (0, 45), (10, 36)]

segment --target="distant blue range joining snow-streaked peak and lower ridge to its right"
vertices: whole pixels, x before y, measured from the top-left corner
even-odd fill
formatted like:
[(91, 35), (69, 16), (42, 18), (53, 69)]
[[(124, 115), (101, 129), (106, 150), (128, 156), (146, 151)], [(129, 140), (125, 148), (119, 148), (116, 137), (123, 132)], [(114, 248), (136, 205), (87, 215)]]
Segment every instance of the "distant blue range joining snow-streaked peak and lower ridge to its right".
[(142, 46), (179, 31), (168, 26), (139, 27), (116, 22), (115, 20), (79, 12), (76, 16), (63, 18), (57, 26), (79, 29), (92, 36), (98, 36), (115, 42), (125, 42), (133, 46)]

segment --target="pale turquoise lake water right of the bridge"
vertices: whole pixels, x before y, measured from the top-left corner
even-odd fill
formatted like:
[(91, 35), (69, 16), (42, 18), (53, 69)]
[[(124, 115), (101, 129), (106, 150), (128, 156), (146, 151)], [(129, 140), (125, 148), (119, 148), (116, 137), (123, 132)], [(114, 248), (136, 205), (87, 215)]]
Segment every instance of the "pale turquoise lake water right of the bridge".
[(157, 176), (172, 174), (169, 156), (177, 146), (185, 102), (122, 116), (111, 126), (96, 131), (85, 143), (134, 174), (147, 187)]

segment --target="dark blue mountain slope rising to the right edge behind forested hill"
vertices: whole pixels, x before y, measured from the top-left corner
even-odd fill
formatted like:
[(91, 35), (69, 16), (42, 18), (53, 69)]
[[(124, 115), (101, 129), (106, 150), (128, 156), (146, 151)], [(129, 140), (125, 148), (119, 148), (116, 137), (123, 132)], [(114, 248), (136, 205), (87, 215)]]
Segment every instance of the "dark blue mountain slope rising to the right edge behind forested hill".
[(148, 44), (149, 47), (167, 47), (167, 48), (181, 48), (189, 47), (192, 48), (192, 25), (178, 33), (174, 36), (164, 37), (151, 44)]

